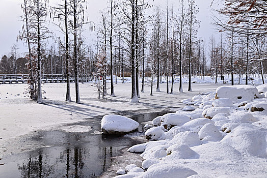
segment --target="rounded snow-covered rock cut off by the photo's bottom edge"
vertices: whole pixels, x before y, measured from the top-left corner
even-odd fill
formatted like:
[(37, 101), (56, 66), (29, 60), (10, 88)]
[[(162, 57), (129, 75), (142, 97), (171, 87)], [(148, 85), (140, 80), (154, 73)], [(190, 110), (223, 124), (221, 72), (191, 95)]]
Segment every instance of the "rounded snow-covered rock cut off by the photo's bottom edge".
[(185, 178), (197, 174), (192, 169), (172, 163), (154, 164), (143, 174), (143, 178)]

